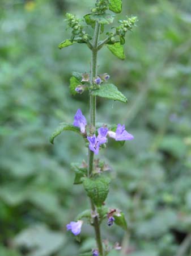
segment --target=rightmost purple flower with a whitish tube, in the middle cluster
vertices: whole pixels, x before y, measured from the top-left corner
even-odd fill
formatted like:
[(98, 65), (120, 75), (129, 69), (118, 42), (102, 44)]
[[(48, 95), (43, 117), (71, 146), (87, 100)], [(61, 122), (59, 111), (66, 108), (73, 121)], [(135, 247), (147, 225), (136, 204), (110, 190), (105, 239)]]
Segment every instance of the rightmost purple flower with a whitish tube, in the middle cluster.
[(117, 125), (116, 132), (108, 131), (108, 135), (116, 141), (130, 141), (131, 139), (134, 139), (133, 135), (125, 130), (125, 125), (120, 125), (120, 123)]

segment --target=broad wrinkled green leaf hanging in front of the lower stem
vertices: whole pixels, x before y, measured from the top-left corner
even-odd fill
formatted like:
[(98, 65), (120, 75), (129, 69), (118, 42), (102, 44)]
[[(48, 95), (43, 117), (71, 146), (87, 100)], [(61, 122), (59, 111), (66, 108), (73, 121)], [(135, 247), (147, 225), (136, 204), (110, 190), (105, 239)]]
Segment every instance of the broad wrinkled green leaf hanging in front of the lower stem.
[(83, 178), (83, 185), (87, 195), (97, 207), (101, 207), (109, 192), (110, 179), (99, 176), (96, 179)]

